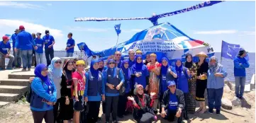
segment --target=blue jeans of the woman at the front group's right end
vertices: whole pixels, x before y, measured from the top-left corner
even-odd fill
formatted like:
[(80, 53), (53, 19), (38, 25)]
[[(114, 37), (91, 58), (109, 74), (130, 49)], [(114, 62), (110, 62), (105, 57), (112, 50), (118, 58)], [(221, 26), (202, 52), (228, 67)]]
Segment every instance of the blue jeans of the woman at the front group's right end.
[(216, 110), (220, 111), (223, 88), (218, 88), (218, 89), (207, 88), (207, 95), (208, 95), (209, 110), (213, 110), (213, 108), (215, 107)]

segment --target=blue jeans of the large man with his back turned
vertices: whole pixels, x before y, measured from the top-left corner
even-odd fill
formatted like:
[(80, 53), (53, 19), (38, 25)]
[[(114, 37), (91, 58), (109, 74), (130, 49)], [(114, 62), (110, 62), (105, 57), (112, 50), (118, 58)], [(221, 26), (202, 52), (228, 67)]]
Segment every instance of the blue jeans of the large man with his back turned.
[(33, 52), (31, 50), (21, 50), (23, 69), (30, 69), (32, 64)]

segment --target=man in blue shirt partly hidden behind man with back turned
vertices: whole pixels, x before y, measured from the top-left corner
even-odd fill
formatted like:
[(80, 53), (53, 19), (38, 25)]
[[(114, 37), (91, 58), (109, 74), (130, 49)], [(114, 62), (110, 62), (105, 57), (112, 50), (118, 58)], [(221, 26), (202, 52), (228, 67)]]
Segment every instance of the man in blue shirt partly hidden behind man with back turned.
[(11, 40), (13, 40), (13, 56), (14, 56), (14, 62), (13, 62), (13, 67), (15, 66), (16, 68), (21, 68), (21, 50), (18, 50), (18, 52), (15, 52), (15, 42), (16, 42), (16, 37), (20, 30), (18, 28), (14, 31), (15, 33), (11, 35)]

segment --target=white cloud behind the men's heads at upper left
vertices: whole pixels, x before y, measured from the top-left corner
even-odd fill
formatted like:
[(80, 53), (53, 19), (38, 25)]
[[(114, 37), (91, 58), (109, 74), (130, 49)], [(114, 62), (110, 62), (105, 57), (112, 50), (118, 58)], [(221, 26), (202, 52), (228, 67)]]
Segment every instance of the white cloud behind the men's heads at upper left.
[[(44, 35), (45, 30), (49, 30), (50, 35), (53, 35), (53, 37), (55, 37), (55, 49), (61, 49), (61, 47), (65, 47), (64, 43), (58, 43), (66, 40), (62, 33), (62, 30), (57, 30), (55, 28), (46, 27), (40, 24), (28, 23), (25, 21), (0, 19), (0, 35), (12, 34), (14, 33), (14, 30), (20, 25), (23, 25), (25, 27), (25, 30), (29, 33), (42, 33)], [(62, 46), (63, 44), (64, 46)]]

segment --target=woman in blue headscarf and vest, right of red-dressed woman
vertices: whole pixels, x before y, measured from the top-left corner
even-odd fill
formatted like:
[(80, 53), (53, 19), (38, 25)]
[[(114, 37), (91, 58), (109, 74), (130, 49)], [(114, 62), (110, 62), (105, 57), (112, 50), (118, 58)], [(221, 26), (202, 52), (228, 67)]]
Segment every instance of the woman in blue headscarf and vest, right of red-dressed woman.
[(91, 123), (96, 123), (98, 121), (101, 100), (105, 100), (104, 78), (102, 78), (101, 71), (98, 69), (99, 62), (92, 60), (90, 69), (85, 74), (87, 82), (85, 83), (84, 100), (89, 107), (87, 120)]

